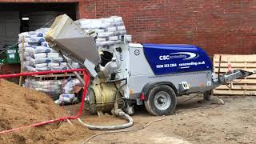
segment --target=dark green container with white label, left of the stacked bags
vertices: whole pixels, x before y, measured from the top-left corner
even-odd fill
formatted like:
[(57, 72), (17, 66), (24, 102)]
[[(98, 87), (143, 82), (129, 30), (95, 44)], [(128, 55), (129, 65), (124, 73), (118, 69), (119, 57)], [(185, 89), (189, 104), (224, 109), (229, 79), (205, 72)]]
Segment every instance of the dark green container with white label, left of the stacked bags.
[(20, 63), (18, 46), (12, 46), (10, 49), (6, 50), (6, 63)]

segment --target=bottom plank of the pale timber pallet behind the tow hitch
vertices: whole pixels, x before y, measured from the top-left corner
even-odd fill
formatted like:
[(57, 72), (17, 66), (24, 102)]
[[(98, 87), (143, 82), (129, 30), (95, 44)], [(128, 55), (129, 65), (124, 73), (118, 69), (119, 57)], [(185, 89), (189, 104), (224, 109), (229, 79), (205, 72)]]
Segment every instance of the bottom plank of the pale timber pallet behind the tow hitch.
[(228, 94), (228, 95), (256, 95), (256, 90), (214, 90), (214, 94)]

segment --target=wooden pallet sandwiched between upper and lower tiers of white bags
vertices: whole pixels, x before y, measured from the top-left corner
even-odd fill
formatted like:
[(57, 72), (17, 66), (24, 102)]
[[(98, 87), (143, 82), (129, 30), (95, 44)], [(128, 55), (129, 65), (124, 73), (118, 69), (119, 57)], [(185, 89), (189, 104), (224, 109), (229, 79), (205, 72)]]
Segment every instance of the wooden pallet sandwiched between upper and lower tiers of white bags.
[[(78, 72), (82, 76), (81, 72)], [(45, 80), (61, 80), (61, 79), (66, 79), (66, 78), (76, 78), (75, 74), (70, 72), (70, 73), (60, 73), (60, 74), (43, 74), (43, 75), (33, 75), (31, 76), (39, 81), (45, 81)]]

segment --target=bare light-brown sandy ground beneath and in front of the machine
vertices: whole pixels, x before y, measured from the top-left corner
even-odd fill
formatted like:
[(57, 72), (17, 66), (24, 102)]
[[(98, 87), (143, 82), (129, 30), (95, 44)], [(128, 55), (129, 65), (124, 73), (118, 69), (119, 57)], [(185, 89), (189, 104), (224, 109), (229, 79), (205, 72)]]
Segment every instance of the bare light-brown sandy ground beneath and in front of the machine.
[[(182, 111), (177, 115), (155, 117), (143, 108), (136, 108), (132, 116), (134, 126), (130, 129), (142, 127), (159, 118), (170, 119), (155, 122), (144, 130), (99, 135), (86, 143), (256, 143), (256, 97), (222, 97), (226, 104), (221, 106), (216, 105), (216, 97), (210, 102), (198, 102), (202, 98), (182, 102), (186, 98), (189, 97), (179, 98), (177, 109)], [(85, 114), (82, 120), (102, 125), (126, 122), (112, 116)], [(94, 134), (100, 132), (102, 131), (94, 131)], [(77, 141), (66, 143), (82, 143), (90, 136), (80, 135)]]

